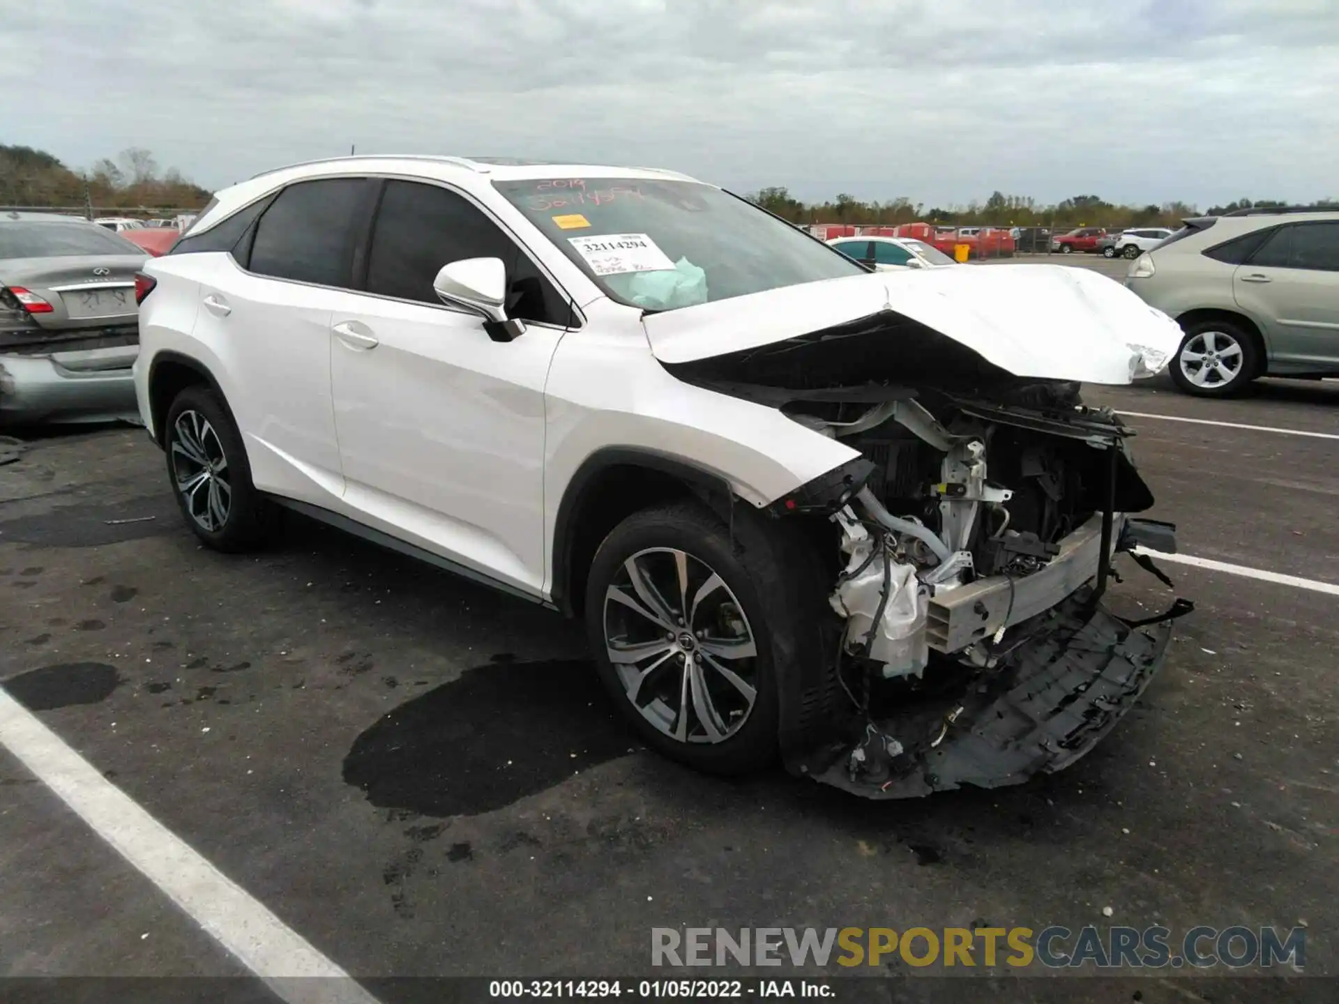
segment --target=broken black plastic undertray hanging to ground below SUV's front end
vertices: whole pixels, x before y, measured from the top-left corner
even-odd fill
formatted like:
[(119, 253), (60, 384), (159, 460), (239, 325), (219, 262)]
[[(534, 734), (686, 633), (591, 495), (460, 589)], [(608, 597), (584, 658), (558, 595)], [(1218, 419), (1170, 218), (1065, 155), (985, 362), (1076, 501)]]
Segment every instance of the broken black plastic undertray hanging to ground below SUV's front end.
[(965, 687), (873, 720), (850, 742), (787, 758), (791, 771), (866, 798), (1020, 784), (1083, 756), (1125, 715), (1166, 656), (1170, 618), (1131, 626), (1079, 589), (1030, 625), (1003, 665)]

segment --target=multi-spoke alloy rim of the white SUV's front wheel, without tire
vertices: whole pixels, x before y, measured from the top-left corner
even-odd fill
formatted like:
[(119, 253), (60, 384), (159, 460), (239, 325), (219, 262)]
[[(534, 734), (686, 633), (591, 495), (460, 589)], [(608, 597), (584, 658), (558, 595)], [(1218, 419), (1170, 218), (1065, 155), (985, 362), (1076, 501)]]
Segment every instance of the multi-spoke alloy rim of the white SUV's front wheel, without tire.
[(743, 606), (704, 561), (672, 548), (623, 562), (604, 600), (605, 651), (624, 693), (680, 743), (720, 743), (758, 697), (758, 645)]

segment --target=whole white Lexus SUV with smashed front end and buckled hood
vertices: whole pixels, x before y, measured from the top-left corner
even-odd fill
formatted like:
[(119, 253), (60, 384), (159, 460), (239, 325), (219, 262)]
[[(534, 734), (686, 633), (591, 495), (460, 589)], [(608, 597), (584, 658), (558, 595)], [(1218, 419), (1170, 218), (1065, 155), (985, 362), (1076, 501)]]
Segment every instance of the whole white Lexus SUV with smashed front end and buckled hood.
[(671, 171), (364, 157), (218, 193), (137, 299), (205, 543), (287, 507), (582, 617), (700, 768), (1018, 783), (1105, 735), (1188, 608), (1101, 602), (1174, 537), (1078, 382), (1181, 331), (1095, 273), (876, 273)]

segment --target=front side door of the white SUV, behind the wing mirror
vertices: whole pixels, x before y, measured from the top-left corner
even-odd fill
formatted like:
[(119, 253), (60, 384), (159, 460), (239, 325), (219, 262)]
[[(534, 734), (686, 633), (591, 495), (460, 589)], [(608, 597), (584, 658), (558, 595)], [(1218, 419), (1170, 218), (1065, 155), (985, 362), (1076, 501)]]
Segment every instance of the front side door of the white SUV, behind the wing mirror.
[[(506, 264), (507, 315), (528, 324), (513, 341), (432, 290), (443, 265), (478, 257)], [(428, 182), (384, 182), (362, 270), (329, 317), (347, 510), (538, 594), (544, 384), (570, 304), (481, 206)]]

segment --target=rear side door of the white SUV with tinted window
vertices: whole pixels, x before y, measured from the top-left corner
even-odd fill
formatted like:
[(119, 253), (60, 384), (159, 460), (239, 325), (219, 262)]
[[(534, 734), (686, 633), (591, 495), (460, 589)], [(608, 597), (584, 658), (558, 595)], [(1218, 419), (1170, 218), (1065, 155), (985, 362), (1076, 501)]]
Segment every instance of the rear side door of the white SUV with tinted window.
[[(371, 183), (321, 178), (248, 210), (230, 253), (205, 272), (194, 333), (217, 356), (228, 404), (262, 491), (329, 507), (344, 490), (331, 402), (329, 316), (349, 284), (355, 224)], [(217, 236), (216, 236), (217, 238)], [(195, 237), (174, 249), (189, 253)]]

